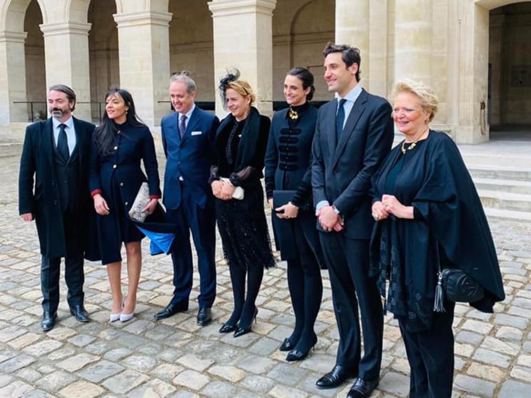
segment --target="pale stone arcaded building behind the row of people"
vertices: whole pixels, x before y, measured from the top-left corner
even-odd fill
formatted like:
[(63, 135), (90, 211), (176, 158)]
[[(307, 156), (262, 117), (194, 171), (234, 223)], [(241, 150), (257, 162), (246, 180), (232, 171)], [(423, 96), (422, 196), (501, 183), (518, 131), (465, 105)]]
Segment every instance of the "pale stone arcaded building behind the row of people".
[(46, 117), (46, 88), (78, 94), (76, 116), (98, 122), (105, 92), (132, 92), (153, 129), (169, 109), (168, 79), (189, 70), (198, 101), (238, 68), (272, 113), (286, 71), (316, 76), (329, 100), (321, 51), (361, 50), (365, 89), (387, 97), (408, 77), (440, 99), (433, 126), (458, 143), (493, 127), (531, 125), (531, 2), (511, 0), (0, 0), (0, 135), (20, 139)]

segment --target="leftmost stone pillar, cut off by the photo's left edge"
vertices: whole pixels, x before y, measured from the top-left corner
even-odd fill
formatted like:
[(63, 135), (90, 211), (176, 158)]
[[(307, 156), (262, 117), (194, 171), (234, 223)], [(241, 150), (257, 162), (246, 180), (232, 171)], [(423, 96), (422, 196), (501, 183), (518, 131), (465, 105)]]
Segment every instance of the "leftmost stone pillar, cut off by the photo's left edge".
[(26, 32), (0, 32), (0, 124), (28, 122), (24, 40)]

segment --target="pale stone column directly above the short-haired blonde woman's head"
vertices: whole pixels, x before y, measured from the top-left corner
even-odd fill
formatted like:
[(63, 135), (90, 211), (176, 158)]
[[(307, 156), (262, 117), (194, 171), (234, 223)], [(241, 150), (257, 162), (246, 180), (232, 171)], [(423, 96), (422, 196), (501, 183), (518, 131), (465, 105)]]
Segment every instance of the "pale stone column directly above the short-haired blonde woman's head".
[(395, 0), (395, 81), (431, 84), (432, 0)]

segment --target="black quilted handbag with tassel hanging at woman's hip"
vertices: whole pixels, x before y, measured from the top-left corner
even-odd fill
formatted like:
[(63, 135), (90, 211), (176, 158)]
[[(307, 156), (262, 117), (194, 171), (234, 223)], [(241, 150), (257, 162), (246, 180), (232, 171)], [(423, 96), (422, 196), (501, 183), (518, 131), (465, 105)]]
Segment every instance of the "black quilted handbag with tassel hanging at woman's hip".
[(483, 298), (483, 286), (472, 276), (458, 268), (441, 270), (439, 258), (439, 244), (436, 244), (435, 256), (437, 262), (438, 281), (435, 288), (435, 302), (433, 310), (444, 312), (444, 298), (454, 302), (475, 302)]

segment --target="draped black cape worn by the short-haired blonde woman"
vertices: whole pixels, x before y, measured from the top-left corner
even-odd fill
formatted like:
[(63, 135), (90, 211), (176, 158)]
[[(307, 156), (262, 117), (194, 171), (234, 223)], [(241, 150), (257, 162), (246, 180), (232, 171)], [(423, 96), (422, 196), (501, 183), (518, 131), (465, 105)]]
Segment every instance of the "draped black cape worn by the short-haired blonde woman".
[[(393, 149), (372, 179), (373, 201), (381, 200), (386, 179), (399, 155)], [(422, 217), (386, 219), (375, 223), (371, 239), (371, 269), (380, 258), (380, 234), (385, 223), (396, 222), (401, 263), (408, 289), (408, 307), (425, 300), (433, 307), (436, 286), (436, 254), (441, 267), (458, 267), (486, 289), (483, 300), (472, 305), (492, 312), (505, 295), (489, 224), (476, 188), (457, 145), (442, 132), (430, 130), (426, 140), (404, 155), (392, 194), (400, 203), (414, 206)], [(414, 300), (414, 301), (412, 301)]]

